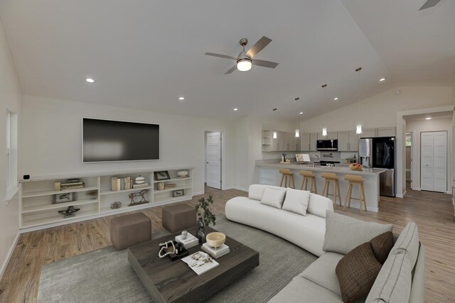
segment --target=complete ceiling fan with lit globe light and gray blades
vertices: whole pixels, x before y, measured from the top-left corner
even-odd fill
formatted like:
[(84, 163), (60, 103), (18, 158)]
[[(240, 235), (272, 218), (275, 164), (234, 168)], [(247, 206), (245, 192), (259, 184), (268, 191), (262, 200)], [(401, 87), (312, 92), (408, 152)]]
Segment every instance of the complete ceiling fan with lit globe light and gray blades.
[(230, 70), (228, 70), (228, 72), (225, 72), (225, 75), (230, 74), (231, 72), (234, 72), (235, 70), (240, 70), (241, 72), (246, 72), (247, 70), (251, 70), (252, 65), (275, 68), (278, 65), (277, 62), (253, 59), (253, 57), (255, 57), (255, 55), (257, 55), (257, 53), (259, 53), (261, 50), (263, 50), (270, 42), (272, 42), (272, 39), (269, 39), (266, 36), (263, 36), (262, 38), (260, 38), (257, 41), (257, 43), (255, 45), (252, 46), (252, 48), (250, 48), (250, 50), (246, 51), (245, 45), (248, 44), (248, 39), (242, 38), (242, 39), (240, 39), (239, 43), (240, 43), (240, 45), (242, 45), (243, 50), (240, 52), (240, 54), (237, 57), (214, 54), (214, 53), (205, 53), (205, 55), (222, 57), (225, 59), (231, 59), (231, 60), (237, 61), (237, 64), (234, 65), (232, 68), (230, 68)]

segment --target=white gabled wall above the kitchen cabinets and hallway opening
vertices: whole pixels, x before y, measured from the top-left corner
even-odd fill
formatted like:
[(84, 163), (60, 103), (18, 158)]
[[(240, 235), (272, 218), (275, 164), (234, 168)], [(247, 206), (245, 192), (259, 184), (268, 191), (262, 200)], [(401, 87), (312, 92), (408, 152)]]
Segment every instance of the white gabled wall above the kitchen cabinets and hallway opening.
[[(396, 91), (400, 94), (395, 95)], [(397, 112), (410, 109), (427, 109), (453, 105), (452, 87), (397, 87), (381, 94), (350, 104), (326, 115), (328, 131), (355, 131), (355, 125), (363, 128), (397, 126)], [(312, 133), (321, 131), (323, 116), (303, 121), (300, 131)]]

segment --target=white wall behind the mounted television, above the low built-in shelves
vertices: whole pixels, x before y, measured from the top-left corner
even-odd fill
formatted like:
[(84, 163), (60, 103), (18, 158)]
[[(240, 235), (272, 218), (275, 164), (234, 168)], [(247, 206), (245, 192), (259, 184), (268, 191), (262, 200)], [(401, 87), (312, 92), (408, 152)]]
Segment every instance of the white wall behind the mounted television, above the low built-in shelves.
[[(159, 123), (161, 160), (82, 163), (82, 117)], [(192, 166), (196, 167), (193, 191), (200, 193), (204, 190), (205, 130), (225, 131), (225, 182), (232, 187), (235, 170), (230, 167), (235, 162), (235, 133), (231, 122), (24, 95), (23, 174), (33, 177)]]

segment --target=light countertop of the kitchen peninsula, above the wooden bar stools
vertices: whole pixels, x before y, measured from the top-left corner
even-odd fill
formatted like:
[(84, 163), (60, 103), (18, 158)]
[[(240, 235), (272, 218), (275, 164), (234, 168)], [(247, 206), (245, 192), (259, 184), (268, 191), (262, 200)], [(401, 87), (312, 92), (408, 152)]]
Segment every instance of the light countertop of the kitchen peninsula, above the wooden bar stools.
[(289, 168), (289, 170), (310, 170), (312, 172), (335, 172), (338, 174), (350, 174), (350, 175), (380, 175), (382, 172), (385, 172), (385, 170), (382, 170), (380, 168), (363, 168), (363, 170), (350, 170), (348, 167), (328, 167), (328, 166), (312, 167), (311, 163), (308, 166), (306, 164), (295, 164), (295, 162), (291, 162), (290, 164), (282, 164), (279, 162), (269, 162), (267, 160), (257, 160), (256, 166), (274, 167), (274, 168)]

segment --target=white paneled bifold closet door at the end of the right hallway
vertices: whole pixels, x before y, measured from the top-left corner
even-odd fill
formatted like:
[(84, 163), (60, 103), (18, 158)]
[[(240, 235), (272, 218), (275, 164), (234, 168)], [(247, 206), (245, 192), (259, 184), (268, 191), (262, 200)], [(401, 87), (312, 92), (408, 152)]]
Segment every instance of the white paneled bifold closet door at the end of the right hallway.
[(420, 134), (420, 188), (433, 192), (447, 189), (447, 133)]

